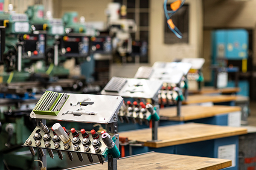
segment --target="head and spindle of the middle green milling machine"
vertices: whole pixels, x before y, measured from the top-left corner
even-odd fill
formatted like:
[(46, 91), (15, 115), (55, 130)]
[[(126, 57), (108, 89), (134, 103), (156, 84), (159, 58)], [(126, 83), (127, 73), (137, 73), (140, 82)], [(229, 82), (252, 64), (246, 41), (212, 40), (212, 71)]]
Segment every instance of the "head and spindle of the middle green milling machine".
[[(32, 28), (37, 31), (47, 31), (46, 56), (47, 60), (40, 72), (50, 77), (68, 77), (69, 70), (63, 67), (66, 59), (65, 49), (60, 49), (60, 38), (65, 35), (61, 18), (52, 18), (51, 12), (44, 10), (44, 5), (29, 6), (25, 12), (29, 16)], [(46, 16), (45, 16), (46, 15)]]

